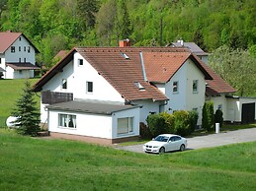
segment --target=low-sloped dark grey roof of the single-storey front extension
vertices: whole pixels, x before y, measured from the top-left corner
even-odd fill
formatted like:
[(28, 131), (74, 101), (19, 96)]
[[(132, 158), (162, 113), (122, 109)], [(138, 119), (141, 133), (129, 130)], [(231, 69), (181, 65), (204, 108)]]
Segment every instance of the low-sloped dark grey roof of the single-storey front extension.
[(84, 113), (95, 113), (111, 115), (113, 112), (136, 108), (139, 105), (125, 105), (117, 102), (100, 101), (100, 100), (71, 100), (56, 104), (47, 105), (50, 110), (65, 110)]

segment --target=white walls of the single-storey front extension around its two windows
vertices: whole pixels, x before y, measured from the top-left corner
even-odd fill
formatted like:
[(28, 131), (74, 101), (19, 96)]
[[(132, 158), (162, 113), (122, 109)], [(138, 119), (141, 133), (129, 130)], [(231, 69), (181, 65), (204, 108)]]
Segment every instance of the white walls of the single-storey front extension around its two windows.
[[(59, 114), (76, 116), (76, 128), (59, 127)], [(48, 110), (48, 130), (50, 132), (82, 135), (97, 138), (117, 139), (139, 135), (139, 108), (118, 111), (112, 115), (95, 113), (70, 112), (61, 110)], [(118, 118), (132, 117), (133, 132), (118, 135)]]

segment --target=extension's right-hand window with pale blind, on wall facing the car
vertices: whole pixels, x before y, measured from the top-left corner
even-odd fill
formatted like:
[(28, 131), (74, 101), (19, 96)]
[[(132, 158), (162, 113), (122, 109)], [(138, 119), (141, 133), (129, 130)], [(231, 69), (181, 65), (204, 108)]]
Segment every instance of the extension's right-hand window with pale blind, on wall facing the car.
[(118, 119), (118, 135), (133, 132), (133, 117)]

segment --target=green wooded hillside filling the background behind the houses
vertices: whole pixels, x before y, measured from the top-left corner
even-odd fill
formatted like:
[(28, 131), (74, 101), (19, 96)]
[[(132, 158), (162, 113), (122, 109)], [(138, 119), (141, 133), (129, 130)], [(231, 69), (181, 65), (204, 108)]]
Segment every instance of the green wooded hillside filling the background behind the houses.
[[(125, 38), (133, 46), (193, 41), (213, 53), (213, 69), (239, 96), (256, 96), (255, 0), (1, 0), (0, 31), (8, 30), (31, 39), (41, 51), (37, 62), (48, 67), (59, 50), (74, 46), (117, 46)], [(237, 52), (239, 68), (229, 73), (249, 71), (241, 77), (250, 77), (246, 90), (223, 71), (223, 59)]]

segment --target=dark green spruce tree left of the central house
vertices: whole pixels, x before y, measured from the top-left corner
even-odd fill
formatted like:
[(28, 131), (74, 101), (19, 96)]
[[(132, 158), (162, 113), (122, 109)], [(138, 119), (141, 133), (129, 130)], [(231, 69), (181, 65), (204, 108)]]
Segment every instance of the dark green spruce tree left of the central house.
[(13, 123), (22, 135), (37, 136), (40, 131), (41, 113), (36, 107), (37, 101), (34, 100), (33, 96), (34, 92), (31, 85), (26, 82), (23, 94), (16, 101), (16, 108), (12, 111), (12, 115), (17, 117)]

